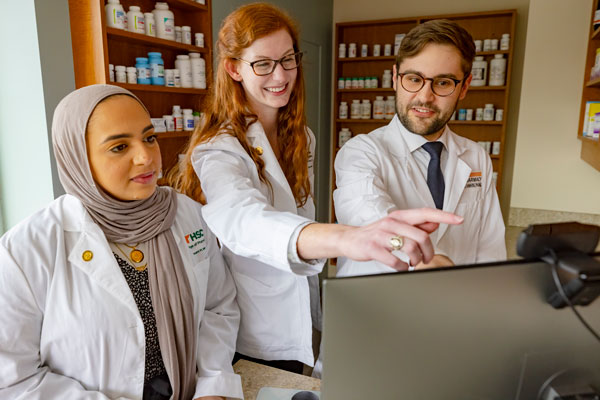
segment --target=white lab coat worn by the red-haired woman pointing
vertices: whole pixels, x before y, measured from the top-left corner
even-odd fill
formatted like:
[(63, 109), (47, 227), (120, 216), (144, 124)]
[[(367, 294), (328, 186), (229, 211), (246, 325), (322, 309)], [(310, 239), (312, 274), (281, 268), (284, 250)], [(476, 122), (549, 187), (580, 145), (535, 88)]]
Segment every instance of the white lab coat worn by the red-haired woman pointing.
[[(200, 144), (192, 155), (207, 199), (202, 215), (222, 244), (237, 287), (241, 312), (237, 351), (263, 360), (297, 360), (312, 366), (307, 276), (318, 274), (325, 260), (290, 263), (288, 245), (299, 226), (313, 222), (313, 200), (310, 197), (304, 207), (296, 207), (259, 122), (249, 127), (246, 136), (252, 147), (263, 149), (272, 194), (260, 181), (250, 156), (231, 135)], [(309, 139), (312, 188), (315, 140), (310, 131)], [(295, 243), (292, 247), (295, 251)]]

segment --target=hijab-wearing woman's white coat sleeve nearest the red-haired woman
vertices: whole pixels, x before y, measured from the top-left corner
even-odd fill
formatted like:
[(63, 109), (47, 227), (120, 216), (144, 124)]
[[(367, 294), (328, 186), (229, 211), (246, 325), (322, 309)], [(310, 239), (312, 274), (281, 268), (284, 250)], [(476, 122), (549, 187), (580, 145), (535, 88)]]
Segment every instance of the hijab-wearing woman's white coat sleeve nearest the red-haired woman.
[(214, 235), (208, 231), (207, 236), (210, 269), (206, 307), (198, 336), (198, 380), (194, 398), (225, 396), (243, 399), (241, 378), (231, 366), (240, 324), (235, 284)]

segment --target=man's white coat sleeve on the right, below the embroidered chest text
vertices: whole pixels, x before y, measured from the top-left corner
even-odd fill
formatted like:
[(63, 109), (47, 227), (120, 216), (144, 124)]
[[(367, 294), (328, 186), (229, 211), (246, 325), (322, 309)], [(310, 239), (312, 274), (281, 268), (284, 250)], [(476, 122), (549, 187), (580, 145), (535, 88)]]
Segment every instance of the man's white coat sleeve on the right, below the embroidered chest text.
[(496, 194), (492, 163), (486, 155), (486, 187), (481, 202), (481, 227), (476, 262), (492, 262), (506, 260), (506, 243), (504, 239), (504, 220), (500, 210), (500, 202)]

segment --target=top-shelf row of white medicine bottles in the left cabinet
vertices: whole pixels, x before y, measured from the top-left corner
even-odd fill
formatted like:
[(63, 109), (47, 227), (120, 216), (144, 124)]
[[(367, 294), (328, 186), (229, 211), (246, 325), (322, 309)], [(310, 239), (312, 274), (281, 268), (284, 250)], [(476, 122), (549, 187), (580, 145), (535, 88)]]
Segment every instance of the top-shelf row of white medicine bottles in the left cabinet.
[[(204, 4), (204, 3), (202, 3)], [(119, 0), (107, 0), (105, 5), (106, 24), (110, 28), (154, 36), (192, 44), (192, 30), (189, 26), (175, 26), (175, 17), (167, 3), (157, 2), (152, 12), (143, 13), (138, 6), (130, 6), (125, 13)], [(204, 34), (195, 33), (195, 45), (204, 47)]]

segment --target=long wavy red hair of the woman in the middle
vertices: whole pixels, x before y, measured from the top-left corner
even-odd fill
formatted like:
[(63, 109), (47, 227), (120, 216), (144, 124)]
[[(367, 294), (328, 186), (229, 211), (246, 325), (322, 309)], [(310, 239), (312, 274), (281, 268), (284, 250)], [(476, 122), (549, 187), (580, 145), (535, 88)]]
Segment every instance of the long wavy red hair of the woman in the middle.
[[(266, 3), (242, 6), (223, 20), (217, 39), (217, 77), (205, 107), (203, 124), (196, 128), (185, 152), (185, 160), (168, 174), (169, 184), (191, 198), (202, 201), (202, 189), (191, 163), (194, 148), (217, 135), (235, 136), (250, 155), (261, 181), (271, 187), (265, 176), (265, 163), (250, 146), (246, 138), (248, 127), (258, 117), (249, 109), (241, 82), (235, 81), (225, 68), (227, 62), (241, 57), (242, 51), (252, 43), (271, 33), (285, 29), (292, 37), (294, 51), (299, 51), (298, 29), (283, 11)], [(301, 207), (310, 196), (308, 178), (308, 133), (304, 115), (304, 77), (298, 67), (296, 85), (288, 104), (278, 113), (277, 140), (282, 169), (292, 189), (296, 204)]]

